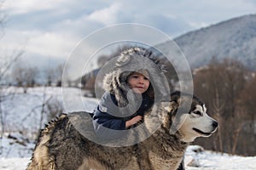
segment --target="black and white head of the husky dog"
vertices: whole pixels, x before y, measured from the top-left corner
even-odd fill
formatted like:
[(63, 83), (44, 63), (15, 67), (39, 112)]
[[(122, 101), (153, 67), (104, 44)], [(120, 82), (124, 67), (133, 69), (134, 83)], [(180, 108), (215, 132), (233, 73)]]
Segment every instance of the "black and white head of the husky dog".
[(208, 137), (218, 127), (212, 117), (207, 115), (207, 108), (195, 95), (175, 92), (165, 107), (167, 116), (163, 126), (170, 133), (177, 134), (183, 142), (192, 142), (197, 137)]

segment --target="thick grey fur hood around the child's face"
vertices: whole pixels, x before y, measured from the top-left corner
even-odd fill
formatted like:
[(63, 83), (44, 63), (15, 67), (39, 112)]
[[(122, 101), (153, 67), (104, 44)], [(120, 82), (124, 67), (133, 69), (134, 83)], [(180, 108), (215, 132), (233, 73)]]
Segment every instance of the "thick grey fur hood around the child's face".
[(127, 78), (133, 72), (147, 71), (150, 86), (154, 88), (154, 99), (163, 99), (170, 96), (163, 68), (153, 51), (138, 47), (128, 48), (116, 58), (113, 71), (104, 77), (103, 88), (115, 96), (119, 106), (125, 106), (136, 98), (134, 94), (129, 93), (131, 89)]

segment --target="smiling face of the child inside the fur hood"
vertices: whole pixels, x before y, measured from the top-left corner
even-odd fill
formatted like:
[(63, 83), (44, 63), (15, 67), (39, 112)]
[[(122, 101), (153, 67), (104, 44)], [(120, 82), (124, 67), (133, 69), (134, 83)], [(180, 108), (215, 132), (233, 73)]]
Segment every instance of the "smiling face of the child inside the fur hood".
[(140, 73), (132, 73), (127, 82), (132, 90), (137, 94), (143, 94), (148, 90), (149, 87), (149, 80), (148, 77), (145, 77), (143, 74)]

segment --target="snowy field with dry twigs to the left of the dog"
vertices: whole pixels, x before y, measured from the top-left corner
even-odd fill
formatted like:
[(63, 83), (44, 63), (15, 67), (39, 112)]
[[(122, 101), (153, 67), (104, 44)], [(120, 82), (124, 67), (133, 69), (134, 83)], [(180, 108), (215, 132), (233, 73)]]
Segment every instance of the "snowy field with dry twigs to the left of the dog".
[[(65, 111), (63, 112), (65, 113), (71, 111), (92, 112), (98, 103), (97, 99), (84, 98), (84, 92), (81, 92), (79, 88), (28, 88), (26, 94), (23, 93), (23, 88), (11, 87), (2, 91), (5, 97), (0, 104), (3, 111), (5, 133), (0, 139), (0, 156), (4, 158), (32, 156), (38, 131), (49, 121), (47, 119), (48, 109), (44, 105), (42, 125), (39, 125), (42, 104), (46, 100), (49, 100), (49, 104), (54, 106), (64, 107)], [(66, 99), (67, 105), (62, 102), (62, 92), (69, 96)], [(2, 129), (2, 124), (0, 127)]]

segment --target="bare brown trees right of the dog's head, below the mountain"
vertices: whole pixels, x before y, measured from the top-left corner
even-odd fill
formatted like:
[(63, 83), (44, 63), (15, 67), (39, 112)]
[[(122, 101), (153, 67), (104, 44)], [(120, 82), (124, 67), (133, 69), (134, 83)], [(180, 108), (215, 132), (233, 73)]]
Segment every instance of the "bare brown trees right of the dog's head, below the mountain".
[(195, 95), (218, 120), (218, 132), (196, 143), (210, 150), (255, 156), (256, 76), (240, 62), (213, 58), (207, 67), (195, 71)]

